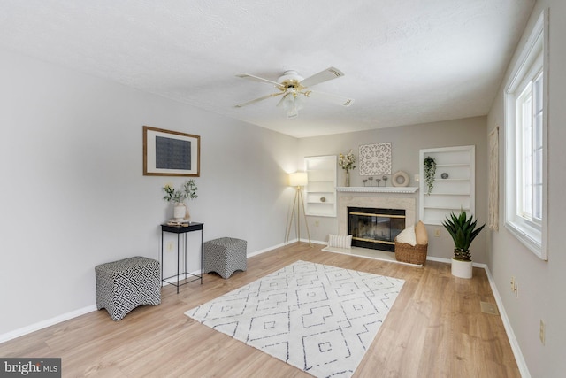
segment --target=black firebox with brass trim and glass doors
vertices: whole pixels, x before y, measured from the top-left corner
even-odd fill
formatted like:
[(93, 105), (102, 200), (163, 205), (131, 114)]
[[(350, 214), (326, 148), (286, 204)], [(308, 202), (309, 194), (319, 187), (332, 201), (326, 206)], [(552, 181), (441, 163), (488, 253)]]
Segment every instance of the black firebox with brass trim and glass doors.
[(348, 207), (348, 235), (352, 245), (380, 251), (394, 251), (395, 237), (405, 228), (405, 211)]

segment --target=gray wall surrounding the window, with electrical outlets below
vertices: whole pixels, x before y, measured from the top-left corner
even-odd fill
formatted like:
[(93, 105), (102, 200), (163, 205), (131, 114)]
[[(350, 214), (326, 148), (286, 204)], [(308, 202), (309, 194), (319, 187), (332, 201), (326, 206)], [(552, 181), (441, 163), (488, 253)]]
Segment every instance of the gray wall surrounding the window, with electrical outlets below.
[[(500, 214), (498, 232), (488, 231), (488, 266), (493, 274), (501, 300), (509, 316), (509, 322), (533, 377), (562, 377), (566, 372), (566, 253), (564, 243), (564, 214), (566, 213), (566, 2), (563, 0), (539, 0), (525, 29), (530, 35), (540, 12), (548, 7), (550, 14), (550, 66), (548, 109), (548, 261), (542, 261), (511, 235), (503, 223), (504, 198), (504, 114), (503, 89), (516, 57), (509, 65), (506, 80), (487, 118), (487, 132), (500, 126)], [(516, 51), (522, 50), (525, 38)], [(509, 289), (511, 276), (518, 282), (518, 297)], [(539, 341), (539, 322), (547, 326), (547, 340)]]

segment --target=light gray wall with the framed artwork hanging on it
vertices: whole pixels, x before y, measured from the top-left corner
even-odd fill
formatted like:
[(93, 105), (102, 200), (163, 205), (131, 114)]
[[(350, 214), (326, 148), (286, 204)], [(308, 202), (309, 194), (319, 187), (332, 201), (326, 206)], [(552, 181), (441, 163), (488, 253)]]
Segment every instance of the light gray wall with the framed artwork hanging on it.
[(296, 139), (5, 50), (0, 82), (0, 336), (94, 305), (98, 264), (158, 258), (162, 187), (184, 179), (142, 175), (143, 125), (201, 135), (205, 241), (284, 242)]

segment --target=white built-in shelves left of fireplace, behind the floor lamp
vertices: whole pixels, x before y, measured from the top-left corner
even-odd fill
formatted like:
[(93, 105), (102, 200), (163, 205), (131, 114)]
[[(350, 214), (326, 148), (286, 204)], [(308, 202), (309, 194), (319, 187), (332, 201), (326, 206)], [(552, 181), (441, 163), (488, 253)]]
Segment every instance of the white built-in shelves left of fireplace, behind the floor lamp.
[(320, 217), (336, 216), (336, 155), (304, 158), (308, 175), (305, 213)]

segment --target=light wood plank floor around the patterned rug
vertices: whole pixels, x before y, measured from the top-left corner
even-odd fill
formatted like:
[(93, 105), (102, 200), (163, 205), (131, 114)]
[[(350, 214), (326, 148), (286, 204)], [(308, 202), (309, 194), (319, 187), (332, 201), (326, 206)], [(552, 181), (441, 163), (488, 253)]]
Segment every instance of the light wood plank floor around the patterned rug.
[[(340, 266), (405, 280), (355, 377), (519, 377), (483, 269), (471, 280), (450, 275), (447, 264), (424, 268), (356, 258), (295, 243), (248, 259), (248, 271), (228, 280), (205, 274), (162, 304), (142, 306), (114, 322), (105, 310), (0, 344), (2, 357), (60, 357), (64, 377), (309, 377), (184, 315), (232, 289), (296, 260)], [(94, 301), (94, 298), (93, 298)]]

